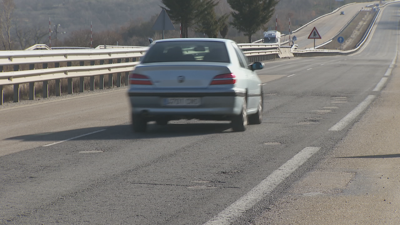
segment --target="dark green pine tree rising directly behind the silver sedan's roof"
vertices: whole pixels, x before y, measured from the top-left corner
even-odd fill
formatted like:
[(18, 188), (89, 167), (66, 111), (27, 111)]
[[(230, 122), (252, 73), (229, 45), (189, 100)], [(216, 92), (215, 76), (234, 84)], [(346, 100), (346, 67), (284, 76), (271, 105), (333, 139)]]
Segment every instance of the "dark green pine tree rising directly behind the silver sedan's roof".
[(214, 8), (214, 0), (162, 0), (171, 20), (181, 24), (182, 37), (188, 37), (188, 28), (193, 26), (209, 8)]

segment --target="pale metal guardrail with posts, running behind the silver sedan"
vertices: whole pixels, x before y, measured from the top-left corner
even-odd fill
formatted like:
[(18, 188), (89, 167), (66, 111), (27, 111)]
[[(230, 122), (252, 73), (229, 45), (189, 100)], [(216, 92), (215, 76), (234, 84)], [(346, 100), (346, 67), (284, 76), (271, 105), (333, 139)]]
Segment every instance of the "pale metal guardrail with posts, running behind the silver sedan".
[[(239, 44), (249, 61), (276, 58), (278, 45)], [(40, 49), (40, 50), (35, 50)], [(128, 84), (128, 74), (139, 63), (148, 47), (101, 45), (96, 49), (50, 49), (36, 45), (30, 51), (0, 52), (0, 105), (4, 103), (4, 87), (13, 85), (13, 101), (20, 101), (20, 85), (29, 84), (29, 99), (36, 95), (35, 83), (42, 82), (42, 97), (49, 97), (49, 84), (55, 81), (55, 95), (61, 95), (61, 80), (68, 80), (68, 94), (73, 93), (73, 79), (79, 78), (79, 91), (83, 92), (84, 78), (90, 77), (90, 90), (95, 90), (95, 76), (100, 76), (99, 89), (104, 89), (104, 76), (108, 86)], [(117, 80), (114, 82), (113, 74)], [(125, 78), (125, 82), (122, 79)]]

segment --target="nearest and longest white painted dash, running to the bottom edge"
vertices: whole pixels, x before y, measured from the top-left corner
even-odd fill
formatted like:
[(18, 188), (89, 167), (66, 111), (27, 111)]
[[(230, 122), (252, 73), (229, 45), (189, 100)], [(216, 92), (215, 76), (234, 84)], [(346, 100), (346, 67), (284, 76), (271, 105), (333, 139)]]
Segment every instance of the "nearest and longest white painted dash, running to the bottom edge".
[(267, 195), (269, 195), (282, 181), (288, 178), (320, 149), (321, 148), (319, 147), (304, 148), (297, 155), (293, 156), (293, 158), (279, 167), (279, 169), (275, 170), (265, 180), (261, 181), (261, 183), (250, 190), (250, 192), (220, 212), (216, 217), (209, 220), (204, 225), (230, 224)]

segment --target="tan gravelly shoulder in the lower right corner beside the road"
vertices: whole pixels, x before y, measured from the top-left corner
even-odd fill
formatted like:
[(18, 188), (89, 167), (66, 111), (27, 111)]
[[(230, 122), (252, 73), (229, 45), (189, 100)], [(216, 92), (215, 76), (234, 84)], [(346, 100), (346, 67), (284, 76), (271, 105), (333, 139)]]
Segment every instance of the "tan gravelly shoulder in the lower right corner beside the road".
[(400, 224), (399, 112), (395, 68), (346, 138), (255, 224)]

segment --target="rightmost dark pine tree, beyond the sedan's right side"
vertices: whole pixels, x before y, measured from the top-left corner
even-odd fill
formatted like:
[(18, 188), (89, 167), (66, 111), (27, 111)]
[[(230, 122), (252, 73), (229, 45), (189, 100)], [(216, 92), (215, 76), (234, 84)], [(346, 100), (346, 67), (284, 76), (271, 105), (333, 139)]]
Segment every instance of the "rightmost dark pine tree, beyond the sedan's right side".
[(228, 0), (232, 12), (231, 25), (249, 37), (271, 19), (279, 0)]

